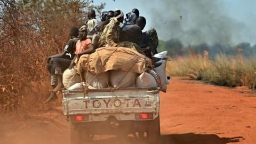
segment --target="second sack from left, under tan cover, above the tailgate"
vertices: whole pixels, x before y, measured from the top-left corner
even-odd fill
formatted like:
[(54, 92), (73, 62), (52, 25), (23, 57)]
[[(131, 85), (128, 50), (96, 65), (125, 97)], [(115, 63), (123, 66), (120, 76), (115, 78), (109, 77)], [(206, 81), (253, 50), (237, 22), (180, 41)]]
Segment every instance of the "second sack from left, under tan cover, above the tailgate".
[(87, 79), (87, 83), (95, 89), (103, 89), (108, 87), (109, 72), (107, 71), (105, 73), (98, 74), (97, 76), (94, 76), (90, 72), (88, 73), (88, 76), (84, 73), (84, 78)]

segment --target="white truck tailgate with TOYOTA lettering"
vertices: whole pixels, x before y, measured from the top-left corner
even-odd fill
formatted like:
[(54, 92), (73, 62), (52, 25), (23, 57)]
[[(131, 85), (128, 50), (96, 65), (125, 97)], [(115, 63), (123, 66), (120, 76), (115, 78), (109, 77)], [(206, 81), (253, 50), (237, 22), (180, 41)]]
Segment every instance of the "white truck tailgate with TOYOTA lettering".
[(92, 91), (84, 95), (83, 91), (63, 93), (63, 113), (77, 114), (115, 114), (115, 113), (155, 113), (155, 91), (145, 89)]

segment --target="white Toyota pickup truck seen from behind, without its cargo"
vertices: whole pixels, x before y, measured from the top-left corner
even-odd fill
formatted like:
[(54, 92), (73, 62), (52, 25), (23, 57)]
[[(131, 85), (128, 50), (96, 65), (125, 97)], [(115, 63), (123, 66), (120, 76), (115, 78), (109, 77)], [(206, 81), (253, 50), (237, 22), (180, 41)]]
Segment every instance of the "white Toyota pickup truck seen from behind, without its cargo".
[(70, 143), (91, 141), (94, 135), (129, 134), (157, 143), (159, 88), (63, 90), (63, 114), (70, 124)]

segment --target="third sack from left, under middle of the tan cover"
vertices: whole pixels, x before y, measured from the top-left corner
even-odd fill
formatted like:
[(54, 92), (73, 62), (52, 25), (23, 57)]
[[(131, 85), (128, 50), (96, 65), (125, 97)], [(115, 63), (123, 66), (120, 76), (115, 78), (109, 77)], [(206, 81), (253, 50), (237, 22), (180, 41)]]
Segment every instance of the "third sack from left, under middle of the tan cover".
[(111, 70), (110, 83), (116, 89), (129, 87), (135, 84), (137, 75), (137, 73), (131, 71)]

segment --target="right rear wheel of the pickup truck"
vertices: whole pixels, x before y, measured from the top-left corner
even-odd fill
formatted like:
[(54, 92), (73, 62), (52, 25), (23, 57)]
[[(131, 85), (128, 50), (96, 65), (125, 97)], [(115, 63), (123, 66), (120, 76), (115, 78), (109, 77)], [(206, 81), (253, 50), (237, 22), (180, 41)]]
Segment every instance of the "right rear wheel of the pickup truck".
[(157, 144), (160, 137), (160, 121), (159, 116), (154, 119), (147, 129), (147, 140), (150, 144)]

